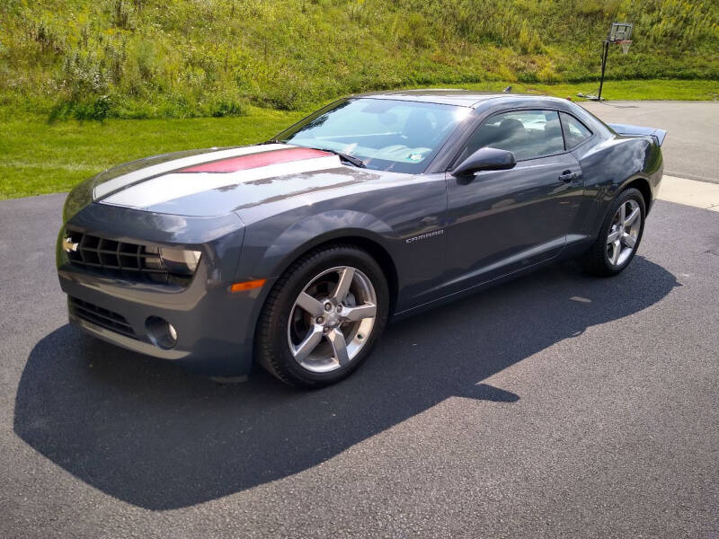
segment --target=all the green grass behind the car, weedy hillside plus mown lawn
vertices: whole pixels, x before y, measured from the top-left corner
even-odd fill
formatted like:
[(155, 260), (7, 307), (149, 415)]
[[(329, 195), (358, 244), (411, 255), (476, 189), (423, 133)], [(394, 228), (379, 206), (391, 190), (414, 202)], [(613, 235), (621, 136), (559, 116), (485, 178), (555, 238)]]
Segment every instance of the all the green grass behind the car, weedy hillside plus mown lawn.
[(717, 99), (716, 0), (2, 0), (0, 199), (253, 143), (347, 93), (595, 93), (617, 20), (635, 43), (604, 97)]

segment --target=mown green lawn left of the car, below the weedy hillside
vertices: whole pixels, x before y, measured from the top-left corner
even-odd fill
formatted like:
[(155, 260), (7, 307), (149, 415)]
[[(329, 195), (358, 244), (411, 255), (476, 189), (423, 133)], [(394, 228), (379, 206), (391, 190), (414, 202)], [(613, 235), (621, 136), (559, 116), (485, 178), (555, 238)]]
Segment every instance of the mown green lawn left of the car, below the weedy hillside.
[(261, 141), (300, 116), (251, 110), (243, 118), (108, 119), (49, 124), (41, 115), (0, 119), (0, 199), (70, 190), (115, 164), (189, 148)]

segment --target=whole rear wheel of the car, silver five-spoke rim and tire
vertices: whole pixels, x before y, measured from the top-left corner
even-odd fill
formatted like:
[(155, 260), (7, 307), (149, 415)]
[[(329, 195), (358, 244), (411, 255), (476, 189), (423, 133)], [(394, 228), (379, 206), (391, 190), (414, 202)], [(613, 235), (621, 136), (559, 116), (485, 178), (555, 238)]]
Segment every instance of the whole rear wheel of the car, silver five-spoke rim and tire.
[(581, 257), (582, 267), (603, 277), (624, 270), (642, 241), (645, 215), (644, 197), (639, 190), (619, 193), (609, 206), (596, 242)]

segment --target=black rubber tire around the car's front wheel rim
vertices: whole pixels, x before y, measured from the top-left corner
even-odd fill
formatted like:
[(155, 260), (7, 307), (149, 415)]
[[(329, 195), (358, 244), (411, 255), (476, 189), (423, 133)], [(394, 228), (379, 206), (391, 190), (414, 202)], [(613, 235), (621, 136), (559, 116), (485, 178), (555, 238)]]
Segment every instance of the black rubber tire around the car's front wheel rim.
[[(300, 365), (288, 343), (288, 320), (297, 296), (315, 276), (338, 266), (350, 266), (371, 281), (377, 296), (375, 323), (357, 356), (331, 372), (314, 372)], [(255, 339), (255, 357), (282, 382), (309, 388), (335, 384), (351, 375), (365, 359), (386, 327), (389, 288), (382, 269), (368, 252), (353, 245), (331, 244), (307, 252), (293, 262), (275, 283), (262, 307)]]

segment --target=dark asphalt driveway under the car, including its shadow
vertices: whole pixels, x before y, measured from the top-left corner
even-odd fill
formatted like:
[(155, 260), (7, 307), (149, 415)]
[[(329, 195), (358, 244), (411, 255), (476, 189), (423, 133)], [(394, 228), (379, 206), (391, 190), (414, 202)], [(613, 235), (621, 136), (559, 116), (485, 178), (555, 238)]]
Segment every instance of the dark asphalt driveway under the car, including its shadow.
[(719, 535), (719, 214), (390, 327), (350, 380), (222, 386), (66, 325), (62, 195), (0, 202), (0, 537)]

